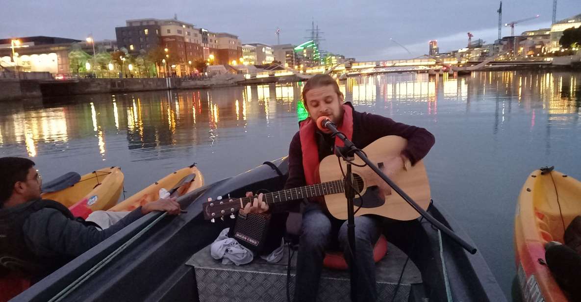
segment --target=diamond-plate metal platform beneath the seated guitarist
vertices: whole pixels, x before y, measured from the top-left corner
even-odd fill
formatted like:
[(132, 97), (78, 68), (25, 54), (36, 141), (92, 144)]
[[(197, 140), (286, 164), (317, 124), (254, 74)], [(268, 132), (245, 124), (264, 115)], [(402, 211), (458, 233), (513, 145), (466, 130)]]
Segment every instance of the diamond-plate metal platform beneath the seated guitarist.
[[(285, 256), (276, 264), (267, 263), (255, 257), (246, 265), (223, 265), (221, 260), (210, 256), (210, 247), (194, 254), (186, 263), (195, 268), (200, 302), (214, 301), (286, 301), (286, 264)], [(292, 258), (290, 271), (290, 295), (295, 290), (295, 264), (297, 253)], [(396, 246), (388, 243), (388, 254), (376, 264), (378, 301), (391, 301), (399, 280), (401, 269), (407, 256)], [(408, 301), (411, 285), (421, 283), (418, 268), (409, 260), (395, 301)], [(350, 301), (349, 271), (336, 271), (324, 268), (321, 275), (318, 301)]]

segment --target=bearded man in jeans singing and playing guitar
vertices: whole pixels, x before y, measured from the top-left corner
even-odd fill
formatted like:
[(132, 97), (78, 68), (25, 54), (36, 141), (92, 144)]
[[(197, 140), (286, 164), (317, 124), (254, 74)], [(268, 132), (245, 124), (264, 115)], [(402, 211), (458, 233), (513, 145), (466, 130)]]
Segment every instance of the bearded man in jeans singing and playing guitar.
[[(293, 136), (289, 148), (289, 177), (285, 189), (318, 184), (318, 166), (326, 156), (333, 154), (335, 145), (342, 145), (330, 134), (318, 130), (317, 118), (327, 116), (339, 131), (343, 132), (358, 148), (365, 148), (383, 136), (396, 135), (407, 139), (407, 144), (398, 156), (383, 159), (383, 172), (392, 178), (398, 172), (407, 170), (424, 158), (432, 148), (434, 136), (425, 130), (411, 125), (396, 123), (391, 118), (370, 113), (360, 113), (347, 102), (332, 77), (318, 74), (307, 81), (303, 88), (303, 102), (309, 118), (300, 124), (300, 130)], [(386, 184), (378, 184), (379, 192), (389, 195)], [(247, 193), (252, 196), (252, 193)], [(246, 212), (262, 213), (268, 210), (262, 195), (252, 204), (244, 207)], [(320, 199), (304, 199), (302, 233), (297, 257), (295, 301), (315, 301), (317, 297), (325, 247), (332, 239), (338, 239), (347, 263), (350, 259), (347, 241), (347, 222), (329, 214)], [(381, 235), (381, 217), (355, 217), (355, 240), (357, 270), (354, 272), (357, 286), (357, 301), (375, 301), (375, 263), (373, 247)]]

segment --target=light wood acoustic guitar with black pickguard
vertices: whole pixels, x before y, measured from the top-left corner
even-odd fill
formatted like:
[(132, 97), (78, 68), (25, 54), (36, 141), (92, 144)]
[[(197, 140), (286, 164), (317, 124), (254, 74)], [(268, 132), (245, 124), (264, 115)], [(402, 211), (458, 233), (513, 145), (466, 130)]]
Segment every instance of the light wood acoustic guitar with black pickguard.
[[(377, 139), (363, 151), (372, 163), (382, 168), (385, 160), (400, 156), (406, 144), (406, 139), (390, 135)], [(357, 154), (353, 162), (364, 164)], [(339, 167), (339, 163), (342, 167)], [(335, 218), (346, 220), (347, 199), (343, 171), (346, 171), (345, 161), (341, 159), (338, 161), (338, 157), (334, 154), (329, 155), (319, 165), (320, 184), (266, 193), (263, 195), (263, 201), (270, 205), (323, 196), (329, 213)], [(373, 214), (394, 220), (413, 220), (419, 217), (419, 213), (396, 192), (390, 190), (389, 185), (385, 184), (370, 167), (352, 165), (352, 173), (353, 187), (358, 192), (353, 200), (356, 216)], [(429, 206), (430, 186), (424, 163), (421, 160), (407, 170), (398, 171), (393, 175), (392, 181), (424, 210)], [(219, 196), (217, 200), (209, 198), (208, 202), (202, 205), (204, 217), (206, 220), (214, 220), (214, 218), (227, 215), (234, 218), (234, 214), (237, 214), (238, 210), (247, 203), (252, 203), (255, 197), (222, 199)]]

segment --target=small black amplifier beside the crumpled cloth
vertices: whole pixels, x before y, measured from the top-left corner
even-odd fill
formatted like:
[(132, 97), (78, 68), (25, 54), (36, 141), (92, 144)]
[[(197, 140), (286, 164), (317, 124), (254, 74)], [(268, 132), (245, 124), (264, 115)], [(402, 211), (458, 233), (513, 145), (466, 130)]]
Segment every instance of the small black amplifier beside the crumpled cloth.
[(266, 234), (268, 233), (268, 224), (270, 224), (270, 215), (245, 213), (240, 210), (238, 217), (236, 217), (236, 224), (233, 231), (230, 231), (229, 236), (238, 240), (238, 242), (253, 251), (254, 254), (259, 254), (266, 242)]

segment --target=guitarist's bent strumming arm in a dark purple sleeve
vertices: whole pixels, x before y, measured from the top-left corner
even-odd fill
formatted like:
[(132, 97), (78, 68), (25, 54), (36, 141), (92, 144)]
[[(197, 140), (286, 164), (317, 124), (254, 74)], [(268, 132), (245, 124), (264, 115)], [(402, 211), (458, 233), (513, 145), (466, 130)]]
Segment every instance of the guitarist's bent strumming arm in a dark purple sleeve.
[(423, 159), (435, 143), (434, 136), (424, 128), (397, 123), (388, 117), (371, 113), (362, 113), (361, 125), (363, 135), (376, 135), (371, 141), (387, 135), (397, 135), (407, 139), (407, 146), (401, 154), (417, 163)]

